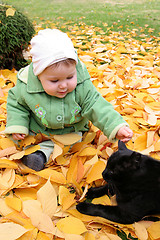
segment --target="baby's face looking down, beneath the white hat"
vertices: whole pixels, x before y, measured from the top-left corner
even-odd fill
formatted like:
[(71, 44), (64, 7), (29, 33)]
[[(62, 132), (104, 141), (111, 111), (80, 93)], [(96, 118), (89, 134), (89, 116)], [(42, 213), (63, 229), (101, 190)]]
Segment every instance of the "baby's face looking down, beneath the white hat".
[(64, 98), (77, 86), (76, 65), (61, 64), (57, 67), (47, 67), (38, 78), (48, 95)]

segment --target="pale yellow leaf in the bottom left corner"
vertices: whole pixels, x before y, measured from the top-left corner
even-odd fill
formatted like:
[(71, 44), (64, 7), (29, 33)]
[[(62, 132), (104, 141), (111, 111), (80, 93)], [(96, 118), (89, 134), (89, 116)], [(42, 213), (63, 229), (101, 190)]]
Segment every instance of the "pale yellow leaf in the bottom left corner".
[(15, 240), (27, 231), (28, 230), (21, 225), (13, 222), (0, 223), (1, 239), (3, 240)]

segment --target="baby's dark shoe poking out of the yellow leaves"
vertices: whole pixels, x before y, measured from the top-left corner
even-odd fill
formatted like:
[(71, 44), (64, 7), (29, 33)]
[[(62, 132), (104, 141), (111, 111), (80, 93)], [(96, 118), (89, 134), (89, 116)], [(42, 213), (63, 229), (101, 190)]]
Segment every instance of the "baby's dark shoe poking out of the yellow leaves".
[(22, 163), (35, 171), (40, 171), (45, 166), (46, 156), (43, 152), (36, 151), (34, 153), (24, 156), (22, 158)]

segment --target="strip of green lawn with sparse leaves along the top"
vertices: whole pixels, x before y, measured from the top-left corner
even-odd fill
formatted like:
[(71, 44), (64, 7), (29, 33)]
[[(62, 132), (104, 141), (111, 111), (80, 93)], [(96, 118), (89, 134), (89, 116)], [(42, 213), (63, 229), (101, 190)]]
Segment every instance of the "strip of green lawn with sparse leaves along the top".
[[(31, 20), (85, 22), (113, 31), (137, 29), (137, 35), (159, 36), (160, 0), (3, 0)], [(62, 17), (62, 18), (60, 18)], [(42, 21), (42, 19), (41, 19)]]

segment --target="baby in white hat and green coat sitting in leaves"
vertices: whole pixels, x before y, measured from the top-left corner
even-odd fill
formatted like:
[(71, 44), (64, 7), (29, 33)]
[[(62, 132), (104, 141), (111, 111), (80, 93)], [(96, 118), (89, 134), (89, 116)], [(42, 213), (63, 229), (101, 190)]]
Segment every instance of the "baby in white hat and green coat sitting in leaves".
[[(5, 133), (14, 140), (28, 134), (66, 134), (88, 131), (91, 121), (113, 142), (127, 142), (133, 132), (122, 116), (96, 90), (71, 39), (57, 29), (40, 30), (31, 40), (32, 63), (18, 72), (9, 90)], [(39, 171), (53, 151), (51, 141), (22, 158)]]

